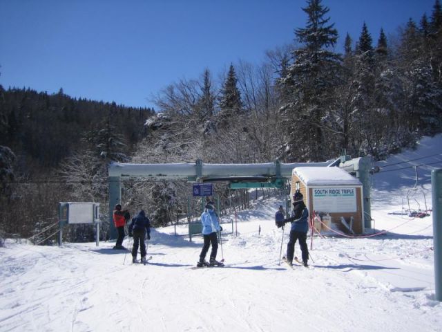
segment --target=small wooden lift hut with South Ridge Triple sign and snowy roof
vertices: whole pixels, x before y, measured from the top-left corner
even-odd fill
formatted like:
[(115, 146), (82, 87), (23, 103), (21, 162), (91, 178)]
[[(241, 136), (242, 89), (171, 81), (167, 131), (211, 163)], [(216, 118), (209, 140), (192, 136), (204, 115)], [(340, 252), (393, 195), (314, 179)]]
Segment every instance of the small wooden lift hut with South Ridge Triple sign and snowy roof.
[[(343, 227), (341, 217), (347, 223), (353, 220), (353, 232), (363, 232), (362, 183), (344, 169), (296, 167), (291, 176), (291, 196), (297, 188), (304, 195), (310, 212), (320, 216), (329, 214), (332, 223), (343, 231), (348, 230)], [(325, 226), (322, 230), (328, 231)]]

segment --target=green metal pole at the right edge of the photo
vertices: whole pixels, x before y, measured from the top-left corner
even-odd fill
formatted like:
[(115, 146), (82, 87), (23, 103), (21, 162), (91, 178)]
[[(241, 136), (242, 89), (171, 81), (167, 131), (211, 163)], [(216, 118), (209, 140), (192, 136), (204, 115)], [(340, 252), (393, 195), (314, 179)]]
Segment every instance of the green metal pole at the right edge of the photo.
[(442, 302), (442, 169), (431, 172), (433, 247), (434, 247), (434, 286), (436, 300)]

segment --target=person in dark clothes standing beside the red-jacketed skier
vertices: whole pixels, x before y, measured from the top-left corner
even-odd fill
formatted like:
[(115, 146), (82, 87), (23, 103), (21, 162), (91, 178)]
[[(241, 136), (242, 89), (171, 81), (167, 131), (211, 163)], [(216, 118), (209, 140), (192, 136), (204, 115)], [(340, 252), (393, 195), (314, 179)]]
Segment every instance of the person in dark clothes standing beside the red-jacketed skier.
[(146, 212), (141, 210), (133, 217), (131, 225), (129, 225), (129, 237), (133, 237), (132, 262), (137, 260), (138, 246), (140, 246), (141, 261), (146, 263), (146, 243), (144, 239), (151, 239), (151, 222), (146, 217)]

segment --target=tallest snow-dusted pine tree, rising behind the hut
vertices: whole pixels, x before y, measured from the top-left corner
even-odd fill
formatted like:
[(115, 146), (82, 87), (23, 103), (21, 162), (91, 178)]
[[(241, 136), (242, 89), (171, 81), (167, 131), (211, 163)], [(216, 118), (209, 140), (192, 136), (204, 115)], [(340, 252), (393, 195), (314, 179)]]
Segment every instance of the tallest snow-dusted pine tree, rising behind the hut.
[(326, 17), (329, 8), (321, 0), (308, 0), (302, 10), (307, 26), (297, 28), (295, 35), (301, 48), (293, 51), (293, 63), (281, 78), (289, 90), (286, 116), (289, 121), (286, 154), (289, 160), (323, 160), (325, 149), (323, 118), (332, 102), (340, 57), (330, 50), (338, 32)]

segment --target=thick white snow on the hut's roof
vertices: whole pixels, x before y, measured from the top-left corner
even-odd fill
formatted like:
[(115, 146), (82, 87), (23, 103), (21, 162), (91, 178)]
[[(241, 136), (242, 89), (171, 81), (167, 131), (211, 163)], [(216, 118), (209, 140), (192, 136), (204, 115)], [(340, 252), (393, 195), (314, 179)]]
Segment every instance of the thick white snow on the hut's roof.
[(305, 185), (362, 185), (357, 178), (339, 167), (296, 167), (292, 174)]

